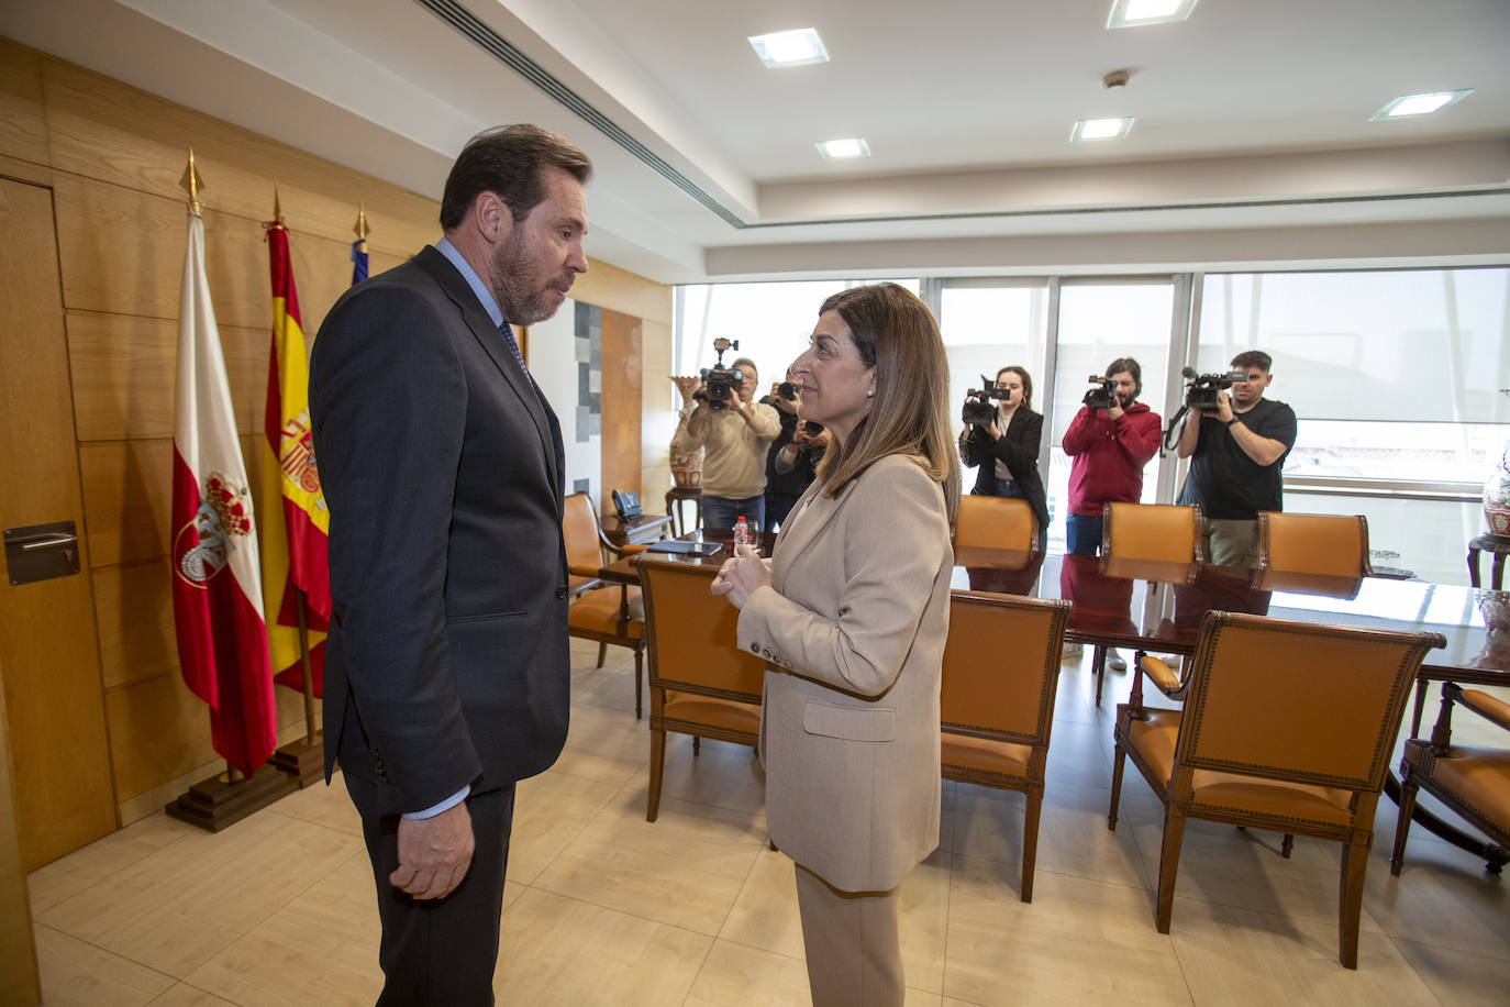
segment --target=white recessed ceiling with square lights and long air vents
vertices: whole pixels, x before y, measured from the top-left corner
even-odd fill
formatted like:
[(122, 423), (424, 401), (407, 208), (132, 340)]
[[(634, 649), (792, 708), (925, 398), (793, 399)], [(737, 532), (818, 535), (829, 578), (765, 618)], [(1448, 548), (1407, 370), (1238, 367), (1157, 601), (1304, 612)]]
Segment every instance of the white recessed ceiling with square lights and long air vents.
[[(435, 198), (468, 136), (541, 122), (596, 165), (589, 254), (661, 282), (1510, 261), (1507, 0), (1108, 8), (8, 0), (0, 33)], [(809, 26), (830, 62), (746, 42)], [(814, 148), (847, 136), (873, 157)]]

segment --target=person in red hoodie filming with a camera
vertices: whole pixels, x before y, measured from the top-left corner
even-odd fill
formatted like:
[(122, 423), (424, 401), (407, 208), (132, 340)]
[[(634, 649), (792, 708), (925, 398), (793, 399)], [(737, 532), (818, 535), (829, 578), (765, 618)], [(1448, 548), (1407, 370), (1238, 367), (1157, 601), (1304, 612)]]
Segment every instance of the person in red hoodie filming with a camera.
[[(1158, 414), (1137, 402), (1143, 368), (1131, 356), (1122, 356), (1107, 367), (1107, 377), (1117, 383), (1116, 405), (1081, 406), (1065, 430), (1065, 454), (1075, 459), (1065, 519), (1066, 548), (1074, 556), (1101, 551), (1101, 504), (1137, 503), (1143, 495), (1143, 467), (1158, 453)], [(1107, 657), (1113, 670), (1126, 667), (1116, 652)]]

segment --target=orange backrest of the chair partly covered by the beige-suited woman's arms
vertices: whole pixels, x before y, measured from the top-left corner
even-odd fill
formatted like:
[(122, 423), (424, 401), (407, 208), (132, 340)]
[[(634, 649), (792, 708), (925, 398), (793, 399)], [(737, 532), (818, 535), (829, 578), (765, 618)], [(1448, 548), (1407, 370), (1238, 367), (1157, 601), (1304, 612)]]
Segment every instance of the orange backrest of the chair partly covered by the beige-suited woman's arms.
[(636, 559), (651, 687), (760, 702), (766, 661), (740, 651), (738, 608), (708, 590), (717, 566)]

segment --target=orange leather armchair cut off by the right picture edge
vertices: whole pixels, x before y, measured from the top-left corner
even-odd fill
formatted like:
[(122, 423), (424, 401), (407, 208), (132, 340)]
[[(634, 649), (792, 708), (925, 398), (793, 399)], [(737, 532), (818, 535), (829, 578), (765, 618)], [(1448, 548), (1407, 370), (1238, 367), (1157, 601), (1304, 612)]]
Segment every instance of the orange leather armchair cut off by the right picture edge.
[[(1400, 759), (1400, 821), (1389, 873), (1400, 874), (1416, 791), (1424, 790), (1487, 835), (1484, 870), (1499, 874), (1510, 861), (1510, 750), (1453, 744), (1453, 707), (1463, 705), (1510, 731), (1510, 704), (1456, 682), (1442, 682), (1442, 713), (1431, 738), (1406, 741)], [(1493, 845), (1498, 844), (1498, 845)]]

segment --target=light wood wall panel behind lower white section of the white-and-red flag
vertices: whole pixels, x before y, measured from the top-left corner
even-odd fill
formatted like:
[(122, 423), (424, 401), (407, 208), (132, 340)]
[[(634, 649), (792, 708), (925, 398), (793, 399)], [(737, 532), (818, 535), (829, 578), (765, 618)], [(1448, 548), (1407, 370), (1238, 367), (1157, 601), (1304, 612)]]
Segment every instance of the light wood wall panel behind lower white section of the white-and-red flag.
[[(220, 325), (236, 429), (255, 433), (267, 406), (269, 328)], [(178, 320), (71, 311), (68, 353), (80, 441), (172, 438)]]

